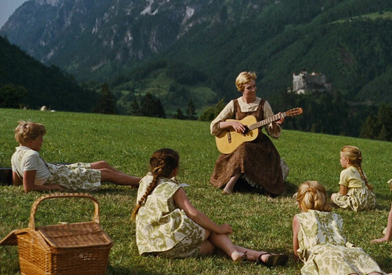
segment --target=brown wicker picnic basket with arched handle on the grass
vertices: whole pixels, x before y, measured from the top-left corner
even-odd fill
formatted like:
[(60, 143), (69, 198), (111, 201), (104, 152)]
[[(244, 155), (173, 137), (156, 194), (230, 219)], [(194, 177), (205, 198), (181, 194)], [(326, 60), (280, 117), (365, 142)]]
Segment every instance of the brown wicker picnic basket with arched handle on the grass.
[[(84, 197), (94, 201), (92, 221), (35, 227), (35, 213), (44, 199)], [(39, 197), (30, 212), (28, 228), (14, 230), (0, 245), (18, 245), (21, 274), (105, 274), (112, 240), (99, 223), (99, 203), (89, 194), (60, 193)]]

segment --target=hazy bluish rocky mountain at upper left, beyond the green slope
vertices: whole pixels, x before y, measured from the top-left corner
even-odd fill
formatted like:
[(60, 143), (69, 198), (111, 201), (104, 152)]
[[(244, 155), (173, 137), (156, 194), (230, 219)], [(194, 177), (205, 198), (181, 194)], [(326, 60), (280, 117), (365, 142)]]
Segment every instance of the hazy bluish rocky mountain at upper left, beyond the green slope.
[[(39, 61), (90, 80), (167, 50), (200, 22), (220, 21), (220, 2), (225, 1), (31, 0), (0, 34)], [(232, 20), (230, 14), (234, 19), (241, 10), (225, 11), (225, 20)]]

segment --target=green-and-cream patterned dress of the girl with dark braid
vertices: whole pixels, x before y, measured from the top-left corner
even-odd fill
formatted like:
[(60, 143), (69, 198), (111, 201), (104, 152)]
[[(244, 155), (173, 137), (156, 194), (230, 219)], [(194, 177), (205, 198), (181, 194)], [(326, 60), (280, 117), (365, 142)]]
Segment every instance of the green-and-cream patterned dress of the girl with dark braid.
[[(137, 201), (143, 197), (153, 179), (148, 173), (141, 179)], [(158, 179), (136, 215), (136, 245), (141, 255), (156, 254), (169, 258), (196, 256), (204, 241), (203, 227), (187, 217), (173, 199), (181, 188), (176, 178)]]

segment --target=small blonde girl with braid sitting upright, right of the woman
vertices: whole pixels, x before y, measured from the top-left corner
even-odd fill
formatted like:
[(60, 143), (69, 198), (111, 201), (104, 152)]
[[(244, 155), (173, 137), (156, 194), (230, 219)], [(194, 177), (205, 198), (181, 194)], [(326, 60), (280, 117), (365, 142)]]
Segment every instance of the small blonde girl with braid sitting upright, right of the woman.
[(340, 173), (340, 191), (331, 195), (333, 203), (340, 208), (349, 208), (354, 211), (375, 208), (373, 186), (367, 181), (361, 162), (362, 153), (358, 147), (342, 147), (340, 164), (344, 170)]

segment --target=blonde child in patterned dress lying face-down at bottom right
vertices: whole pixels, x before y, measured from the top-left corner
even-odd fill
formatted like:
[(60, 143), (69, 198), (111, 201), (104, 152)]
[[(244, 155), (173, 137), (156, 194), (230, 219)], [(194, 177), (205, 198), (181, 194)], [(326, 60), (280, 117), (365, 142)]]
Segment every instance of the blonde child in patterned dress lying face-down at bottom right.
[(342, 217), (331, 212), (327, 192), (318, 181), (301, 184), (296, 201), (301, 213), (293, 218), (293, 250), (304, 262), (301, 274), (386, 274), (362, 248), (347, 241)]

